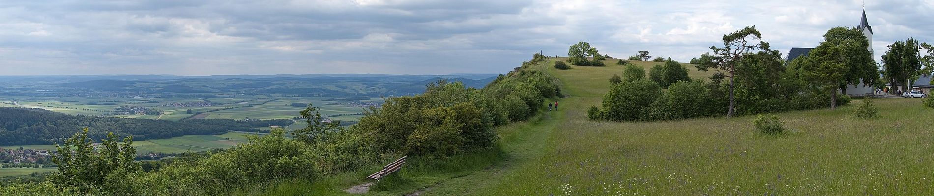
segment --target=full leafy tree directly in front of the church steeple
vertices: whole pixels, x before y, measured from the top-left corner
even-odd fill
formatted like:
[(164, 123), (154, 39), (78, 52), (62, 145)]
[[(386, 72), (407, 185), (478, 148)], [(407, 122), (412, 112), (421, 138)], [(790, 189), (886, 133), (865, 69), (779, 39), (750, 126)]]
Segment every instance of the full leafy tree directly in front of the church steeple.
[(824, 34), (824, 42), (814, 47), (803, 61), (801, 76), (817, 85), (827, 85), (830, 108), (837, 108), (838, 87), (872, 84), (878, 78), (869, 52), (869, 40), (856, 28), (837, 27)]

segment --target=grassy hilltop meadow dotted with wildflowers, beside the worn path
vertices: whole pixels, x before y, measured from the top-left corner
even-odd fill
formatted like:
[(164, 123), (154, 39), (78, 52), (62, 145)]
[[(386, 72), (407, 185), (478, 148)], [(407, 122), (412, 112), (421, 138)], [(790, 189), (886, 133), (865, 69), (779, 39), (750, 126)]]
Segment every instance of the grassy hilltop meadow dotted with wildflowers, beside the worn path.
[[(929, 195), (934, 153), (921, 99), (876, 99), (881, 118), (837, 110), (778, 113), (790, 134), (764, 136), (755, 116), (672, 122), (597, 122), (607, 79), (622, 66), (578, 67), (556, 76), (560, 111), (498, 128), (505, 161), (469, 175), (408, 176), (416, 185), (373, 195)], [(651, 66), (655, 62), (634, 61)], [(696, 79), (706, 73), (688, 69)], [(523, 127), (524, 128), (517, 128)], [(446, 179), (426, 180), (445, 177)], [(347, 189), (348, 184), (337, 187)], [(342, 187), (343, 186), (343, 187)], [(344, 194), (332, 192), (332, 194)]]

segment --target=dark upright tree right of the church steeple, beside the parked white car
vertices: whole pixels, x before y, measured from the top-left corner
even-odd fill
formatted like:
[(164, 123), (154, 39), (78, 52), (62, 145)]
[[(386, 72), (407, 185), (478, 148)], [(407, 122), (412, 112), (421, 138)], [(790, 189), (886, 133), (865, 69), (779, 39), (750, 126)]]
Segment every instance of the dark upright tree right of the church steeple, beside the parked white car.
[(888, 51), (882, 56), (883, 74), (889, 84), (901, 85), (904, 89), (911, 89), (914, 80), (921, 75), (921, 56), (918, 41), (914, 38), (896, 41), (888, 46)]

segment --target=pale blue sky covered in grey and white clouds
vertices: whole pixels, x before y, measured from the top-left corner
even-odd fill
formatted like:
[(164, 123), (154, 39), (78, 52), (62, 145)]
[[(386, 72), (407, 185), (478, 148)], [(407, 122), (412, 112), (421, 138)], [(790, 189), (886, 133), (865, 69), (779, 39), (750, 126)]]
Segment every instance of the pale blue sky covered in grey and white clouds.
[[(0, 1), (0, 75), (505, 73), (586, 41), (681, 61), (756, 26), (774, 50), (856, 27), (862, 0)], [(934, 43), (934, 1), (866, 1), (875, 59)]]

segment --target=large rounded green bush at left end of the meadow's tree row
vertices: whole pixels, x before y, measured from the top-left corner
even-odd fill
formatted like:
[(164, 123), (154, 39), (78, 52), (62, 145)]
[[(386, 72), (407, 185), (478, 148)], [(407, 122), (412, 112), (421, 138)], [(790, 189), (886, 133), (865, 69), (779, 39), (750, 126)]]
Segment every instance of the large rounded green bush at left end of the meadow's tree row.
[(603, 117), (611, 121), (643, 119), (643, 109), (660, 95), (661, 87), (647, 80), (613, 85), (603, 96)]

